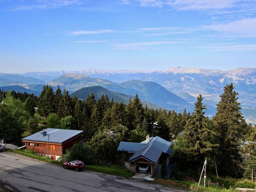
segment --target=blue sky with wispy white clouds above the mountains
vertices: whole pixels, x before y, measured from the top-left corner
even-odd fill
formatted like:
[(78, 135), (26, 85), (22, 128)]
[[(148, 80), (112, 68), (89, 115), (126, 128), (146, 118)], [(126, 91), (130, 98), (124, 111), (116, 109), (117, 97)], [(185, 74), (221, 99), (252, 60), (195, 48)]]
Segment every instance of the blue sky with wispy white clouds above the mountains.
[(0, 0), (0, 67), (256, 68), (256, 1)]

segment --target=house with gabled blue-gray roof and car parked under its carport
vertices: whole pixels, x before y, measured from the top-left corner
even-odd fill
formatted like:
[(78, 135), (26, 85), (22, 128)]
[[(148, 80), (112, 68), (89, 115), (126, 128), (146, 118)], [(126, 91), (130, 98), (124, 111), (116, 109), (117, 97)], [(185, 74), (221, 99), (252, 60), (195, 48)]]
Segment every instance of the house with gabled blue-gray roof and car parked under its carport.
[(161, 137), (146, 137), (146, 140), (140, 143), (120, 142), (118, 151), (124, 151), (128, 154), (128, 168), (137, 171), (140, 164), (150, 164), (151, 175), (161, 175), (162, 166), (166, 166), (168, 176), (170, 177), (173, 165), (170, 164), (172, 155), (171, 143)]

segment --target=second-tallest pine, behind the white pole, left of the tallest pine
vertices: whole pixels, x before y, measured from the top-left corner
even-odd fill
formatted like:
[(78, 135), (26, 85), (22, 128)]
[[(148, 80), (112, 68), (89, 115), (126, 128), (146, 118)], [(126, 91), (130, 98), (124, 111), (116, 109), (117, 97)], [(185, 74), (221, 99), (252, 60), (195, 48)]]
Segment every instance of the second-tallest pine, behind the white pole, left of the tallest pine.
[(212, 148), (216, 145), (212, 144), (212, 132), (206, 124), (204, 113), (207, 108), (203, 105), (203, 97), (200, 94), (195, 103), (195, 109), (191, 118), (187, 121), (184, 130), (184, 152), (187, 155), (187, 161), (194, 168), (201, 167), (204, 159), (210, 157)]

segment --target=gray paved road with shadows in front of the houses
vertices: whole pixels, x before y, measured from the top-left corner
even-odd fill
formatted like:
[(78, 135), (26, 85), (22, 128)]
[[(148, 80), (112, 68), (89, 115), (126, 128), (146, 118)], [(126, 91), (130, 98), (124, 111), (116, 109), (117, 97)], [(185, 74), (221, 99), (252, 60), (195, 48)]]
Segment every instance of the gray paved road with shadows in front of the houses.
[(0, 179), (21, 192), (180, 191), (104, 173), (66, 170), (60, 165), (44, 163), (10, 152), (0, 152)]

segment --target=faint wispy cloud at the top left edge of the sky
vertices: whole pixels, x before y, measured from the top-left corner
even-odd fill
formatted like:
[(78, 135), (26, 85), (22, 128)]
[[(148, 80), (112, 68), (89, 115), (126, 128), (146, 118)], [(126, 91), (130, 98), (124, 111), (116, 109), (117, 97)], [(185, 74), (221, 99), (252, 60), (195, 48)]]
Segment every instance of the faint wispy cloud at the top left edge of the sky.
[(36, 9), (56, 9), (61, 6), (67, 5), (77, 5), (83, 4), (81, 0), (36, 0), (33, 4), (28, 4), (26, 2), (14, 7), (14, 11), (26, 11), (26, 10), (36, 10)]

